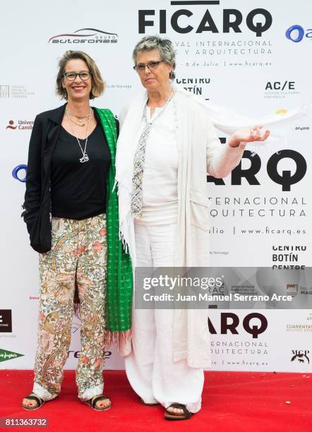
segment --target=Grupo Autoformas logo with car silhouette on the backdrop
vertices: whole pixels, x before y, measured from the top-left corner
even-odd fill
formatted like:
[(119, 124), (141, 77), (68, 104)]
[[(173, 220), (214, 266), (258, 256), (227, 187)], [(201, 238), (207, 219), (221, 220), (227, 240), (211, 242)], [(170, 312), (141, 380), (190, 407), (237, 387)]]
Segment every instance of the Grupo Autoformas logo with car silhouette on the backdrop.
[(80, 28), (73, 33), (62, 33), (49, 38), (52, 44), (116, 44), (116, 33), (103, 32), (96, 28)]

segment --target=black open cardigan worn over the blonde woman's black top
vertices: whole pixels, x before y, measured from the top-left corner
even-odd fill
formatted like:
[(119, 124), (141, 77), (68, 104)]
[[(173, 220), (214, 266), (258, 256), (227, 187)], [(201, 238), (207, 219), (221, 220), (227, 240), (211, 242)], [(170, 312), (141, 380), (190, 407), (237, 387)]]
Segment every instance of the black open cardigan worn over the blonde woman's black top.
[[(51, 249), (51, 164), (65, 107), (66, 104), (38, 114), (30, 136), (22, 216), (30, 234), (30, 245), (40, 253)], [(94, 113), (97, 122), (100, 122), (96, 110)], [(117, 120), (116, 123), (118, 131)]]

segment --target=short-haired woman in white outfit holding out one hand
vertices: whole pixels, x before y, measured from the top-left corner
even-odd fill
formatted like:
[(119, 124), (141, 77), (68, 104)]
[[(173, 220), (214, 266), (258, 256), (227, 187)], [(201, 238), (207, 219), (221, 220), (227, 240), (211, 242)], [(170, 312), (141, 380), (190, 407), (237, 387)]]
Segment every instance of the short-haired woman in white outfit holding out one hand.
[[(119, 222), (134, 266), (208, 265), (207, 173), (225, 177), (246, 143), (263, 141), (257, 125), (221, 145), (202, 104), (173, 85), (172, 42), (144, 37), (133, 50), (143, 87), (121, 113), (116, 155)], [(126, 373), (145, 404), (166, 419), (188, 419), (201, 407), (203, 368), (210, 366), (207, 311), (136, 309)]]

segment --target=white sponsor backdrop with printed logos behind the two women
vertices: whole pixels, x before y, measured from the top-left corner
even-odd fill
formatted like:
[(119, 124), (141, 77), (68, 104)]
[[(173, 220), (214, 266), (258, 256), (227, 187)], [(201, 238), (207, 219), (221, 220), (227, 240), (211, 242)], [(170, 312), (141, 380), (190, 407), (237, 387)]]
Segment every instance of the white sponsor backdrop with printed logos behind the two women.
[[(117, 115), (140, 90), (132, 49), (155, 34), (174, 44), (176, 82), (207, 101), (256, 118), (306, 106), (306, 116), (272, 129), (274, 140), (248, 146), (226, 179), (208, 177), (207, 193), (211, 265), (311, 266), (310, 0), (296, 7), (289, 0), (29, 0), (7, 3), (1, 16), (0, 368), (34, 363), (38, 256), (20, 213), (33, 121), (64, 103), (55, 84), (67, 49), (97, 61), (107, 90), (94, 104)], [(229, 137), (217, 134), (226, 143)], [(246, 282), (235, 289), (252, 294), (254, 287)], [(305, 308), (311, 280), (289, 277), (280, 292), (297, 300), (298, 308), (210, 311), (213, 370), (312, 371), (312, 311)], [(76, 366), (79, 336), (74, 317), (66, 368)], [(105, 357), (106, 368), (124, 368), (113, 348)]]

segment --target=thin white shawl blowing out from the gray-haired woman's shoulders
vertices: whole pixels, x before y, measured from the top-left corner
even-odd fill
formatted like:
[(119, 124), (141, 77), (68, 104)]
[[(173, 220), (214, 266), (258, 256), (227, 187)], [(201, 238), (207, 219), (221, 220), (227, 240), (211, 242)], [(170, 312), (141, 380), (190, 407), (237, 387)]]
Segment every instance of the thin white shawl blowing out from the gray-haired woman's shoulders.
[[(304, 115), (302, 107), (292, 109), (286, 113), (271, 114), (261, 118), (250, 118), (232, 112), (230, 109), (220, 107), (210, 101), (205, 101), (197, 95), (184, 90), (179, 85), (172, 85), (176, 92), (181, 92), (190, 100), (196, 101), (202, 106), (212, 124), (220, 131), (231, 135), (238, 128), (262, 124), (270, 127), (275, 124), (282, 126), (289, 119), (299, 118)], [(136, 266), (136, 245), (134, 240), (133, 217), (130, 212), (133, 157), (136, 152), (136, 136), (142, 121), (143, 109), (148, 100), (146, 91), (141, 92), (128, 107), (124, 108), (120, 115), (121, 131), (119, 134), (116, 151), (116, 183), (119, 190), (119, 232), (121, 239), (131, 254), (133, 268)], [(272, 139), (272, 136), (270, 137)]]

